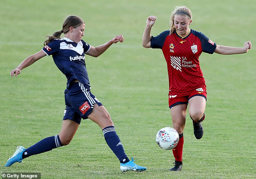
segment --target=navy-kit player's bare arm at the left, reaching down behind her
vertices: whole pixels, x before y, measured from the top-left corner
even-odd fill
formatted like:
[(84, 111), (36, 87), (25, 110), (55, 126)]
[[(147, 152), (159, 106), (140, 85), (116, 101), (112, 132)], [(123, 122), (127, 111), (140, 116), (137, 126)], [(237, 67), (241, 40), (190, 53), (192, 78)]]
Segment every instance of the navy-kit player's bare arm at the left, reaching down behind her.
[(44, 56), (46, 56), (46, 53), (43, 52), (42, 50), (40, 50), (36, 54), (27, 57), (25, 60), (23, 60), (23, 62), (21, 62), (21, 64), (18, 67), (16, 67), (14, 70), (10, 71), (10, 76), (13, 77), (15, 74), (15, 78), (16, 78), (17, 75), (19, 75), (21, 73), (22, 69), (25, 69), (29, 65), (32, 65), (34, 62), (36, 62), (37, 60), (39, 60), (40, 58), (42, 58)]

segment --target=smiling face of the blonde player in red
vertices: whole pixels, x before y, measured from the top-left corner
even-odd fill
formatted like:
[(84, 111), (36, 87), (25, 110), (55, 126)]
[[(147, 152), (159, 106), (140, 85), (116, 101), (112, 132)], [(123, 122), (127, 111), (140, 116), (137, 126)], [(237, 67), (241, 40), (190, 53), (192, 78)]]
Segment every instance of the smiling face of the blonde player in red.
[(181, 36), (185, 37), (189, 34), (189, 25), (191, 24), (191, 20), (186, 15), (175, 15), (174, 16), (174, 26), (176, 32)]

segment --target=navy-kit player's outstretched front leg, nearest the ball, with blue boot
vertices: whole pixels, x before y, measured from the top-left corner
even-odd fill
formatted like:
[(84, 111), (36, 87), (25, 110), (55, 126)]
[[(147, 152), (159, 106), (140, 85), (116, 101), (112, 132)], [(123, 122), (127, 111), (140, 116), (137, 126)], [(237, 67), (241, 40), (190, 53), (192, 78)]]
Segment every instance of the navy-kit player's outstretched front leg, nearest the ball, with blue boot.
[(145, 171), (145, 167), (138, 166), (132, 161), (128, 159), (124, 152), (124, 148), (120, 138), (115, 132), (115, 127), (109, 112), (106, 110), (104, 106), (99, 106), (95, 104), (92, 112), (88, 115), (88, 118), (97, 123), (105, 137), (105, 141), (114, 154), (120, 160), (120, 169), (121, 171)]

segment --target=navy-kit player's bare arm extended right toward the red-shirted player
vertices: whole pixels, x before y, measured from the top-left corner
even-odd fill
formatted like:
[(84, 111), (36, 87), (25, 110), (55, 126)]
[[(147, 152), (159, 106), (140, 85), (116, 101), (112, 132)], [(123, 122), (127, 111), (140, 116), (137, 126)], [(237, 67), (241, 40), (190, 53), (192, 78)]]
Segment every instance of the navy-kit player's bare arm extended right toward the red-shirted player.
[(124, 37), (123, 35), (117, 35), (115, 36), (113, 39), (109, 40), (109, 42), (106, 42), (105, 44), (102, 44), (101, 46), (90, 46), (90, 50), (86, 53), (87, 55), (90, 56), (100, 56), (101, 54), (103, 54), (112, 44), (115, 44), (117, 42), (124, 42)]

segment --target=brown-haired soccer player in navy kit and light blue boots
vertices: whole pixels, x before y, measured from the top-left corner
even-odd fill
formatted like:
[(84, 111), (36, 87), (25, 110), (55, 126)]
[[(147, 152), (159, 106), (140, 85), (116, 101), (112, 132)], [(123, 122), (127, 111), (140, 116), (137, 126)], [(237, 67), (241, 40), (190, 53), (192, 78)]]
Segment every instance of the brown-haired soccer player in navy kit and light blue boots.
[[(78, 16), (69, 16), (63, 23), (61, 31), (55, 32), (44, 42), (44, 48), (34, 55), (27, 57), (21, 64), (10, 72), (15, 77), (21, 70), (33, 64), (46, 55), (52, 58), (59, 70), (67, 77), (67, 89), (65, 90), (65, 104), (62, 128), (59, 135), (47, 137), (33, 146), (25, 149), (17, 147), (16, 152), (6, 162), (6, 167), (15, 162), (21, 162), (31, 155), (50, 151), (54, 148), (68, 145), (75, 135), (81, 119), (91, 119), (103, 130), (105, 140), (120, 160), (120, 169), (124, 171), (145, 171), (145, 167), (138, 166), (129, 160), (124, 152), (122, 143), (115, 132), (113, 121), (106, 108), (90, 92), (90, 82), (85, 64), (85, 54), (97, 57), (112, 44), (123, 42), (122, 35), (115, 36), (105, 44), (93, 47), (82, 40), (85, 23)], [(61, 34), (64, 37), (61, 38)]]

